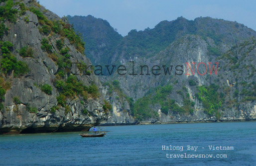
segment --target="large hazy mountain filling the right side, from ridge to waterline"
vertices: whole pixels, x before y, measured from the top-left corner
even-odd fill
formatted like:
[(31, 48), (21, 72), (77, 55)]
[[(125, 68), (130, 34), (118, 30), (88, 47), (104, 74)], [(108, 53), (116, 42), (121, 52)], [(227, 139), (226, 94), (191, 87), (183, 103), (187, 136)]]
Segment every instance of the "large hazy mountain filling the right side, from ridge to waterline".
[[(76, 28), (76, 22), (73, 24)], [(77, 30), (84, 34), (83, 28)], [(105, 84), (119, 82), (121, 90), (114, 88), (113, 91), (119, 96), (122, 93), (125, 99), (117, 97), (118, 101), (113, 101), (113, 105), (117, 102), (129, 104), (126, 108), (119, 107), (118, 112), (113, 111), (108, 123), (124, 123), (118, 117), (126, 112), (129, 118), (134, 118), (134, 123), (256, 119), (254, 37), (256, 32), (243, 24), (210, 17), (191, 21), (179, 17), (173, 21), (162, 21), (153, 29), (131, 30), (107, 61), (97, 61), (103, 66), (124, 65), (127, 68), (127, 74), (123, 76), (117, 73), (117, 68), (111, 76), (106, 76), (106, 73), (100, 76)], [(84, 39), (90, 45), (90, 40)], [(97, 45), (97, 48), (101, 46)], [(129, 75), (133, 68), (130, 61), (134, 62), (135, 76)], [(189, 75), (185, 75), (186, 63), (193, 71), (193, 62), (195, 74), (188, 69)], [(200, 74), (197, 72), (201, 62), (207, 66), (205, 75), (200, 75), (205, 72), (203, 64), (198, 68)], [(213, 65), (217, 68), (215, 63), (219, 63), (217, 75), (214, 71), (210, 74), (209, 63), (211, 70)], [(140, 66), (143, 65), (149, 67), (149, 75), (146, 75), (146, 68), (140, 75)], [(160, 67), (160, 71), (155, 71), (160, 75), (153, 75), (151, 69), (154, 65)], [(164, 70), (167, 67), (170, 70), (171, 66), (171, 74), (165, 74)]]

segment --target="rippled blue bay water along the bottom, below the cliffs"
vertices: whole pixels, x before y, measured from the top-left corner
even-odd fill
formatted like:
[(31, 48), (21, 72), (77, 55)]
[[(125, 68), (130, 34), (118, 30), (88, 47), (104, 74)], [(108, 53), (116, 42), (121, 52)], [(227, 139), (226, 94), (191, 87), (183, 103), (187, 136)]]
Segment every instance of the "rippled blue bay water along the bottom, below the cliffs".
[[(256, 122), (107, 126), (103, 138), (78, 132), (0, 135), (0, 165), (10, 166), (256, 166)], [(183, 146), (162, 150), (162, 146)], [(210, 151), (208, 146), (234, 150)], [(187, 146), (198, 146), (197, 151)], [(205, 148), (205, 149), (203, 149)], [(212, 154), (215, 158), (166, 158)], [(226, 154), (227, 158), (216, 155)]]

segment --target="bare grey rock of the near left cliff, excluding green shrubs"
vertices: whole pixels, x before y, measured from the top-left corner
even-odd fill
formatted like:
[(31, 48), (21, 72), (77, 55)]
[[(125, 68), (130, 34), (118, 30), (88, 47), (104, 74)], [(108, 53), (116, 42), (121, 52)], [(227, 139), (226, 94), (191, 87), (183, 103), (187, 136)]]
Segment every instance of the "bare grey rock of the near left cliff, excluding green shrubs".
[[(24, 3), (28, 7), (33, 5), (31, 0), (24, 0)], [(48, 19), (61, 19), (49, 10), (45, 10), (44, 7), (40, 9)], [(29, 21), (24, 21), (24, 17), (28, 17)], [(58, 71), (58, 66), (41, 49), (41, 41), (43, 38), (49, 37), (53, 51), (59, 53), (55, 43), (60, 39), (60, 36), (58, 34), (53, 36), (42, 35), (38, 29), (40, 25), (37, 16), (30, 11), (26, 11), (24, 15), (19, 16), (16, 23), (5, 21), (4, 24), (9, 30), (2, 40), (10, 41), (14, 45), (12, 54), (17, 57), (17, 60), (26, 62), (30, 71), (25, 76), (11, 80), (11, 87), (4, 96), (4, 109), (0, 111), (0, 134), (82, 131), (89, 130), (90, 127), (107, 120), (109, 113), (103, 110), (105, 96), (102, 95), (101, 91), (99, 98), (89, 98), (83, 104), (80, 102), (83, 98), (80, 96), (69, 99), (67, 102), (67, 105), (71, 108), (69, 112), (65, 112), (65, 108), (62, 107), (55, 112), (51, 112), (50, 109), (57, 105), (56, 97), (59, 95), (53, 85), (54, 74)], [(64, 39), (64, 44), (70, 49), (71, 62), (82, 61), (86, 65), (91, 64), (90, 60), (78, 52), (68, 39)], [(22, 58), (18, 51), (15, 51), (25, 46), (33, 49), (33, 58)], [(75, 73), (74, 68), (72, 66), (73, 73)], [(81, 75), (77, 78), (87, 86), (95, 83), (98, 87), (101, 87), (101, 83), (94, 75)], [(40, 89), (40, 85), (43, 84), (49, 84), (52, 87), (50, 95)], [(14, 97), (18, 97), (20, 103), (15, 104)], [(29, 112), (29, 107), (35, 108), (36, 112)], [(83, 113), (85, 108), (89, 111), (87, 115)]]

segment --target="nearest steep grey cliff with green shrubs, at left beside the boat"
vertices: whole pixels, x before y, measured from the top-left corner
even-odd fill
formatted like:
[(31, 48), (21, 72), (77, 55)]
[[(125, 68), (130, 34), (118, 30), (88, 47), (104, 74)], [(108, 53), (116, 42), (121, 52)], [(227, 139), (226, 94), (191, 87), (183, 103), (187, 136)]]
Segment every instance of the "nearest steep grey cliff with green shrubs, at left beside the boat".
[(106, 121), (103, 87), (82, 74), (91, 62), (67, 21), (34, 0), (0, 6), (0, 134), (81, 131)]

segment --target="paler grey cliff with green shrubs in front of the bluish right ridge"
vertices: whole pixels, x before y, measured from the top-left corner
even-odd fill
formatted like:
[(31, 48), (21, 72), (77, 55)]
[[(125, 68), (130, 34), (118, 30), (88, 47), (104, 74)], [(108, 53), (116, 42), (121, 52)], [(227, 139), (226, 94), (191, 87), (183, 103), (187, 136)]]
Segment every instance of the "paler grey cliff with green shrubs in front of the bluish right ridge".
[[(188, 42), (188, 39), (194, 42)], [(204, 76), (199, 75), (196, 69), (195, 75), (189, 72), (190, 76), (186, 76), (185, 68), (181, 76), (148, 78), (148, 84), (153, 86), (154, 83), (159, 83), (160, 87), (158, 86), (156, 90), (153, 88), (138, 99), (133, 112), (141, 114), (138, 110), (143, 107), (149, 109), (148, 112), (151, 115), (141, 119), (141, 122), (146, 124), (255, 120), (255, 51), (256, 39), (252, 38), (235, 45), (220, 57), (210, 59), (207, 56), (207, 43), (204, 40), (196, 36), (186, 36), (181, 42), (171, 44), (160, 53), (161, 58), (152, 57), (152, 62), (159, 65), (195, 62), (196, 66), (200, 62), (212, 64), (218, 62), (218, 74), (210, 75), (209, 64), (207, 64), (208, 71)], [(168, 56), (162, 58), (164, 55)], [(205, 68), (199, 67), (201, 74), (204, 71)], [(154, 79), (159, 81), (155, 82)], [(147, 86), (145, 83), (143, 85)], [(159, 92), (168, 85), (172, 87), (170, 92), (166, 94)], [(147, 103), (148, 100), (150, 103)], [(144, 112), (147, 111), (144, 110)]]

